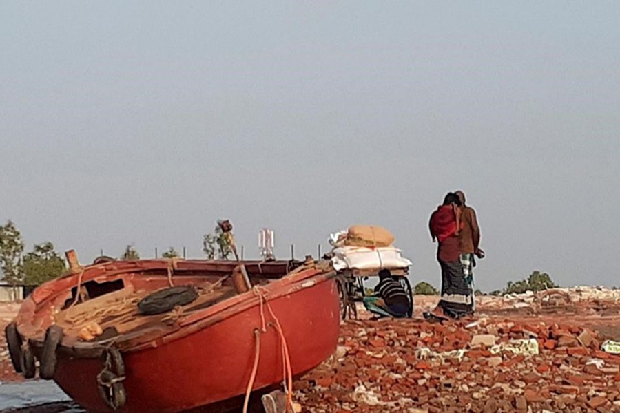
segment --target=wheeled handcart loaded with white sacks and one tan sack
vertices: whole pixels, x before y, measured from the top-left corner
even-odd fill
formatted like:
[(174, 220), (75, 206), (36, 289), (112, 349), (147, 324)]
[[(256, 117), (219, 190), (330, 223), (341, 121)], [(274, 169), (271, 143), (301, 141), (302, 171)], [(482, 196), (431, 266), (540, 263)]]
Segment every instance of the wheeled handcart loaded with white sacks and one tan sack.
[(379, 282), (382, 269), (389, 270), (391, 276), (402, 284), (409, 298), (408, 316), (413, 315), (413, 290), (408, 277), (411, 261), (393, 246), (394, 236), (389, 231), (380, 226), (355, 225), (348, 231), (332, 234), (329, 242), (333, 246), (329, 256), (340, 275), (338, 290), (342, 319), (358, 317), (357, 303), (373, 295), (371, 287)]

